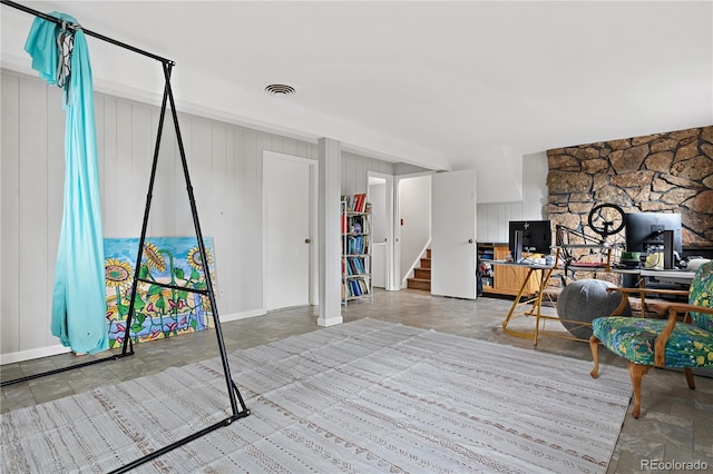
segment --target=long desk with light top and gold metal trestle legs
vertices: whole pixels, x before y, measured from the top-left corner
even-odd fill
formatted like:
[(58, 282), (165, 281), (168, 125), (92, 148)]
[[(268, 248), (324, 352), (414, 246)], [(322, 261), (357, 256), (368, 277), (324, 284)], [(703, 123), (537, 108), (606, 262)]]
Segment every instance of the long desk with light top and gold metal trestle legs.
[[(544, 333), (544, 324), (546, 320), (551, 319), (551, 320), (558, 320), (561, 323), (563, 319), (560, 319), (557, 316), (549, 316), (549, 315), (544, 315), (541, 313), (541, 305), (543, 305), (543, 295), (544, 295), (544, 290), (547, 286), (547, 283), (549, 282), (549, 278), (551, 277), (551, 274), (554, 270), (580, 270), (580, 271), (593, 271), (596, 269), (600, 269), (600, 270), (605, 270), (605, 271), (609, 271), (609, 273), (618, 273), (618, 274), (628, 274), (628, 275), (638, 275), (641, 276), (639, 279), (639, 285), (642, 288), (645, 288), (645, 280), (646, 277), (656, 277), (656, 278), (661, 278), (661, 279), (677, 279), (680, 282), (683, 283), (690, 283), (691, 280), (693, 280), (694, 277), (694, 273), (693, 271), (685, 271), (685, 270), (655, 270), (655, 269), (646, 269), (646, 268), (593, 268), (593, 267), (578, 267), (576, 265), (570, 265), (570, 266), (561, 266), (561, 265), (557, 265), (557, 260), (558, 258), (555, 259), (555, 265), (541, 265), (541, 264), (516, 264), (514, 261), (505, 261), (505, 260), (492, 260), (491, 264), (492, 265), (501, 265), (501, 266), (510, 266), (510, 267), (518, 267), (518, 268), (527, 268), (527, 275), (525, 277), (525, 280), (522, 282), (521, 286), (520, 286), (520, 290), (517, 294), (517, 296), (515, 297), (515, 300), (512, 302), (512, 306), (510, 306), (510, 310), (508, 312), (507, 317), (505, 318), (505, 320), (502, 322), (502, 330), (511, 336), (516, 336), (516, 337), (525, 337), (525, 338), (531, 338), (533, 339), (533, 344), (537, 345), (537, 339), (540, 335), (540, 333)], [(530, 280), (530, 278), (534, 278), (536, 276), (539, 276), (539, 283), (538, 283), (538, 292), (537, 295), (534, 298), (522, 298), (522, 295), (525, 293), (525, 288), (528, 286), (528, 282)], [(666, 293), (665, 290), (662, 290), (662, 293)], [(645, 295), (644, 293), (641, 293), (641, 298), (642, 298), (642, 315), (644, 313), (644, 308), (645, 308)], [(521, 313), (518, 313), (518, 308), (520, 308), (521, 306), (525, 305), (530, 305), (531, 304), (531, 308), (529, 310), (525, 310)], [(515, 330), (508, 327), (509, 323), (512, 320), (514, 317), (517, 316), (534, 316), (535, 317), (535, 328), (531, 332), (522, 332), (522, 330)], [(603, 315), (605, 316), (605, 315)], [(569, 320), (568, 320), (569, 322)], [(540, 323), (543, 324), (543, 328), (540, 329)], [(582, 322), (572, 322), (575, 324), (585, 324)], [(564, 334), (558, 334), (556, 335), (556, 337), (561, 337), (561, 338), (567, 338), (567, 339), (573, 339), (573, 340), (582, 340), (582, 342), (586, 342), (585, 339), (572, 336), (572, 335), (564, 335)]]

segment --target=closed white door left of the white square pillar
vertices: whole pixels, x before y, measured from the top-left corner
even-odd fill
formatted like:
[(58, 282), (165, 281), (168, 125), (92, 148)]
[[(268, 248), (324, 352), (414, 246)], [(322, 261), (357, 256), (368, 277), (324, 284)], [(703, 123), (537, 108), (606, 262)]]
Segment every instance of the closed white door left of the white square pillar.
[(265, 151), (265, 309), (310, 303), (311, 172), (307, 160)]

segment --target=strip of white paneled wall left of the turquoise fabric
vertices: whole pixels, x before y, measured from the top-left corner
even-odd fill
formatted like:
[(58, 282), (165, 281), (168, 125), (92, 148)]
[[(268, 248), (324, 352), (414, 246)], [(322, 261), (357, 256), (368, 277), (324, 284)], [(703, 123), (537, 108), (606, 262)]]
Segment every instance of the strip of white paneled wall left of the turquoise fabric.
[[(48, 101), (60, 113), (48, 110)], [(64, 188), (64, 134), (47, 124), (61, 93), (29, 79), (2, 78), (2, 318), (0, 348), (55, 345), (49, 330)], [(55, 177), (60, 176), (58, 182)], [(53, 233), (55, 239), (46, 236)]]

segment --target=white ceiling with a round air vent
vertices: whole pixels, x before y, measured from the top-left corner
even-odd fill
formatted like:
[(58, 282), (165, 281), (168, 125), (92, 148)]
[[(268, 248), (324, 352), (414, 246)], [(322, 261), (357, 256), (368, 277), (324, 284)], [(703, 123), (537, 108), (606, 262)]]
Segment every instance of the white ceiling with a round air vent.
[[(21, 3), (175, 60), (192, 110), (433, 169), (713, 124), (711, 1)], [(17, 69), (31, 18), (8, 10)], [(99, 43), (98, 88), (159, 97), (157, 66)]]

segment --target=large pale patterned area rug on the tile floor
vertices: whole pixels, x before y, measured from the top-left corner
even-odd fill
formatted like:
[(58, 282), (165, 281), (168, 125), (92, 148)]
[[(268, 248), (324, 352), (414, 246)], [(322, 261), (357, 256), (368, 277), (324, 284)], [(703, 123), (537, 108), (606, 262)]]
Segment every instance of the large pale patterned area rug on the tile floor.
[[(621, 368), (373, 319), (229, 358), (252, 414), (136, 472), (603, 473), (631, 396)], [(118, 468), (228, 416), (225, 389), (213, 359), (4, 414), (1, 471)]]

